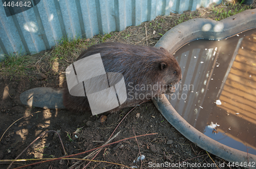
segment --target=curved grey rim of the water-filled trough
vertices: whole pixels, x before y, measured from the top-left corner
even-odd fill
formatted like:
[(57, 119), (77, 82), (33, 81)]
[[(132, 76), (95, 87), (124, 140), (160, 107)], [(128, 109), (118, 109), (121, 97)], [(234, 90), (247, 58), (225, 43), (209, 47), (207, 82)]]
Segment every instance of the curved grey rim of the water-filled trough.
[[(170, 29), (155, 47), (163, 47), (174, 54), (180, 47), (193, 40), (221, 40), (254, 28), (256, 28), (256, 9), (246, 10), (221, 21), (196, 18)], [(153, 98), (153, 102), (171, 125), (200, 148), (230, 162), (248, 164), (256, 161), (256, 155), (223, 145), (191, 126), (178, 114), (164, 94)]]

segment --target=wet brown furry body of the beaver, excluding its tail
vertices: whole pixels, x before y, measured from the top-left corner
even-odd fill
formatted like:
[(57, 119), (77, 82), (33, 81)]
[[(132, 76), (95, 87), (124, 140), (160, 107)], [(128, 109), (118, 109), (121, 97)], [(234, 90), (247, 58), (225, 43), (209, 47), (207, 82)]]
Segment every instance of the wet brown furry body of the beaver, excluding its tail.
[[(181, 68), (176, 59), (164, 48), (135, 46), (107, 42), (92, 45), (77, 60), (100, 53), (105, 72), (118, 72), (124, 77), (127, 100), (121, 108), (152, 99), (157, 94), (170, 94), (181, 78)], [(88, 111), (87, 97), (69, 94), (67, 85), (63, 92), (63, 104), (72, 111)]]

